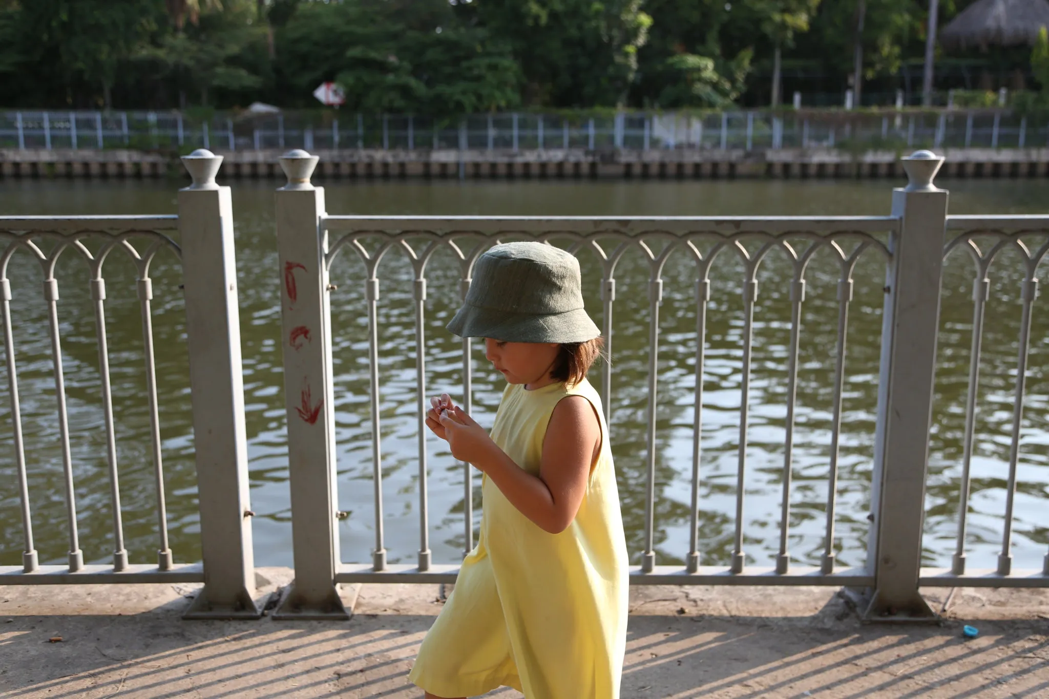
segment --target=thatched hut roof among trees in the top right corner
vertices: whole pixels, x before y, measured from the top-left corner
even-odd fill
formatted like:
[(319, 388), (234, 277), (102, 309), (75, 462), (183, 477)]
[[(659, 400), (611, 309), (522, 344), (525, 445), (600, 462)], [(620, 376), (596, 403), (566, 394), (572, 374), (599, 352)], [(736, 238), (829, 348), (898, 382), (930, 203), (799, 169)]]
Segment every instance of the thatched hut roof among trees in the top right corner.
[(1049, 0), (977, 0), (940, 30), (947, 48), (1034, 44), (1049, 26)]

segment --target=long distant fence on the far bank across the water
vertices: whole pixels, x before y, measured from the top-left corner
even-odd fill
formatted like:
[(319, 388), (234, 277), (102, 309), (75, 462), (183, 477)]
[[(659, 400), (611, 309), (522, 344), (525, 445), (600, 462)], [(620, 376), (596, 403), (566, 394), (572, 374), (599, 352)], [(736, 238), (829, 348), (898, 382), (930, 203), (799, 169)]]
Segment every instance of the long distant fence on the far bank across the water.
[(273, 150), (569, 150), (784, 148), (1043, 148), (1049, 116), (1008, 110), (882, 114), (832, 111), (618, 112), (591, 117), (498, 113), (440, 119), (404, 114), (250, 118), (177, 112), (0, 112), (0, 148)]

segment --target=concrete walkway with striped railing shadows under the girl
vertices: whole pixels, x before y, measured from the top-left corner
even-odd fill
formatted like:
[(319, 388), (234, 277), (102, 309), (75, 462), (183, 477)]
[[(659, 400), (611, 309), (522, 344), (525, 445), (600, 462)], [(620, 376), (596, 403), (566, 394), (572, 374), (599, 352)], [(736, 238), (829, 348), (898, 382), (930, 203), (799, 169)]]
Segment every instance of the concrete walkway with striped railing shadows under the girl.
[[(291, 571), (259, 576), (265, 597)], [(344, 622), (183, 621), (197, 589), (0, 588), (0, 697), (422, 696), (436, 586), (347, 588)], [(939, 611), (949, 591), (925, 592)], [(1049, 697), (1049, 590), (959, 589), (943, 626), (861, 625), (820, 588), (635, 588), (631, 612), (624, 699)]]

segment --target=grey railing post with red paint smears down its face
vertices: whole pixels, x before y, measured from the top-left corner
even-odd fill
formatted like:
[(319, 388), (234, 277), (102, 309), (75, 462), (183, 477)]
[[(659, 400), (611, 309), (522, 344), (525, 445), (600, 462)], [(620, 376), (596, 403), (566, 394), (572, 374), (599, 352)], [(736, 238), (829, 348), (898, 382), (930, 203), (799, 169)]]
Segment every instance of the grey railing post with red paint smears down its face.
[(318, 159), (302, 150), (285, 153), (280, 167), (287, 184), (277, 190), (295, 582), (274, 618), (349, 618), (335, 585), (339, 532), (327, 237), (319, 228), (324, 188), (309, 183)]

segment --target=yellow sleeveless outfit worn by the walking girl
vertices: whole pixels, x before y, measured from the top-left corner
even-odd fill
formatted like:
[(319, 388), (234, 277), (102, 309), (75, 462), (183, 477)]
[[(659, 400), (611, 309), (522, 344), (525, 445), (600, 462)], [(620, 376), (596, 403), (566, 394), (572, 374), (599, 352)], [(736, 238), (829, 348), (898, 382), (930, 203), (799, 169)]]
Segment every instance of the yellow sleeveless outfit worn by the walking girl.
[(538, 475), (550, 416), (569, 395), (585, 397), (601, 423), (576, 519), (549, 533), (483, 477), (477, 545), (408, 675), (426, 692), (470, 697), (506, 684), (528, 699), (619, 697), (628, 560), (601, 399), (585, 379), (534, 391), (508, 386), (492, 439)]

